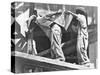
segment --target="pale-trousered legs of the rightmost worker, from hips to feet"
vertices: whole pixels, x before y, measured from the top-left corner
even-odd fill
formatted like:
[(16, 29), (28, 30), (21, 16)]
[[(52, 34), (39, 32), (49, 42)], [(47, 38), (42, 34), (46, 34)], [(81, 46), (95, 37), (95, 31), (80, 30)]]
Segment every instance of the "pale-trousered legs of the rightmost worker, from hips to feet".
[(80, 37), (77, 39), (77, 56), (79, 64), (89, 63), (90, 60), (87, 55), (88, 39)]

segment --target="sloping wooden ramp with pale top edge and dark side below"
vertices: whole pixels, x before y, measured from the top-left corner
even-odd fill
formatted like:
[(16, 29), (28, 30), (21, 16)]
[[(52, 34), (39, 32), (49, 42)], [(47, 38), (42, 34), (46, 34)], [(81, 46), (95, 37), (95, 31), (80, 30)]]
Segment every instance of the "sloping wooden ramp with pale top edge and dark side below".
[(12, 64), (12, 72), (15, 73), (25, 73), (27, 72), (26, 69), (34, 69), (35, 67), (44, 69), (42, 71), (81, 70), (94, 68), (94, 65), (92, 65), (91, 67), (84, 67), (18, 51), (12, 52)]

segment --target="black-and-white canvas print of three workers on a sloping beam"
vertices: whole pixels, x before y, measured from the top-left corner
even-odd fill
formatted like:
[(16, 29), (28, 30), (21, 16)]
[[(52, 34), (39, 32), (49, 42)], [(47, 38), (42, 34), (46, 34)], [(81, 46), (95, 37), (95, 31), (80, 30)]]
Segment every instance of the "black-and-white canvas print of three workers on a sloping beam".
[(11, 72), (97, 68), (98, 7), (11, 3)]

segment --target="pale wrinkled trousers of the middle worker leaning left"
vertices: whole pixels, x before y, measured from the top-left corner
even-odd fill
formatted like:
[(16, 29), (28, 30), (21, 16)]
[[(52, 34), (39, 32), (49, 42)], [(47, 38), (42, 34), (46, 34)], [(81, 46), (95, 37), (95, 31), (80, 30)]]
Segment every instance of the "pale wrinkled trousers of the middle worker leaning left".
[(61, 28), (55, 24), (51, 30), (51, 49), (53, 50), (56, 59), (65, 61), (65, 57), (61, 48)]

